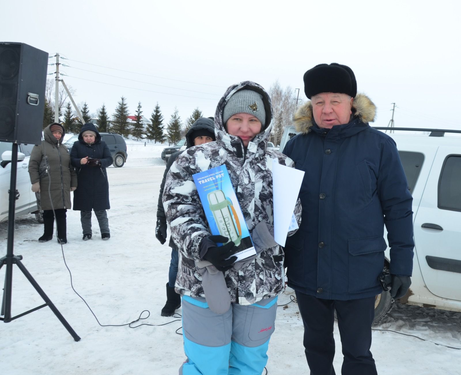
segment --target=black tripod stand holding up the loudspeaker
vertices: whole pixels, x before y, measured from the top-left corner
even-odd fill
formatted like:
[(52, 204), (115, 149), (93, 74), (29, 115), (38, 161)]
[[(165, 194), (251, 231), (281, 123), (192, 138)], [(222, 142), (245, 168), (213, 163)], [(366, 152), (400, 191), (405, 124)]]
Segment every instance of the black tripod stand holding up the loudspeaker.
[[(6, 245), (6, 256), (0, 258), (0, 269), (3, 265), (6, 266), (5, 274), (5, 289), (3, 290), (3, 299), (2, 299), (2, 313), (4, 317), (0, 317), (0, 320), (8, 323), (14, 319), (17, 319), (21, 316), (29, 314), (33, 311), (39, 310), (42, 307), (49, 306), (53, 311), (54, 315), (59, 319), (62, 325), (67, 329), (75, 341), (79, 341), (80, 337), (75, 333), (69, 323), (64, 319), (64, 316), (56, 309), (53, 302), (48, 298), (48, 296), (43, 292), (41, 287), (34, 280), (29, 271), (24, 267), (24, 264), (21, 262), (23, 257), (21, 255), (15, 256), (13, 254), (13, 238), (14, 238), (14, 210), (16, 206), (16, 175), (17, 175), (17, 165), (18, 165), (18, 143), (12, 144), (12, 160), (11, 160), (11, 179), (10, 179), (10, 191), (9, 191), (9, 206), (8, 206), (8, 240)], [(30, 284), (35, 288), (35, 290), (40, 294), (40, 297), (45, 301), (45, 304), (35, 307), (29, 311), (26, 311), (22, 314), (11, 316), (11, 297), (12, 297), (12, 276), (13, 276), (13, 264), (16, 264), (24, 276), (29, 280)]]

